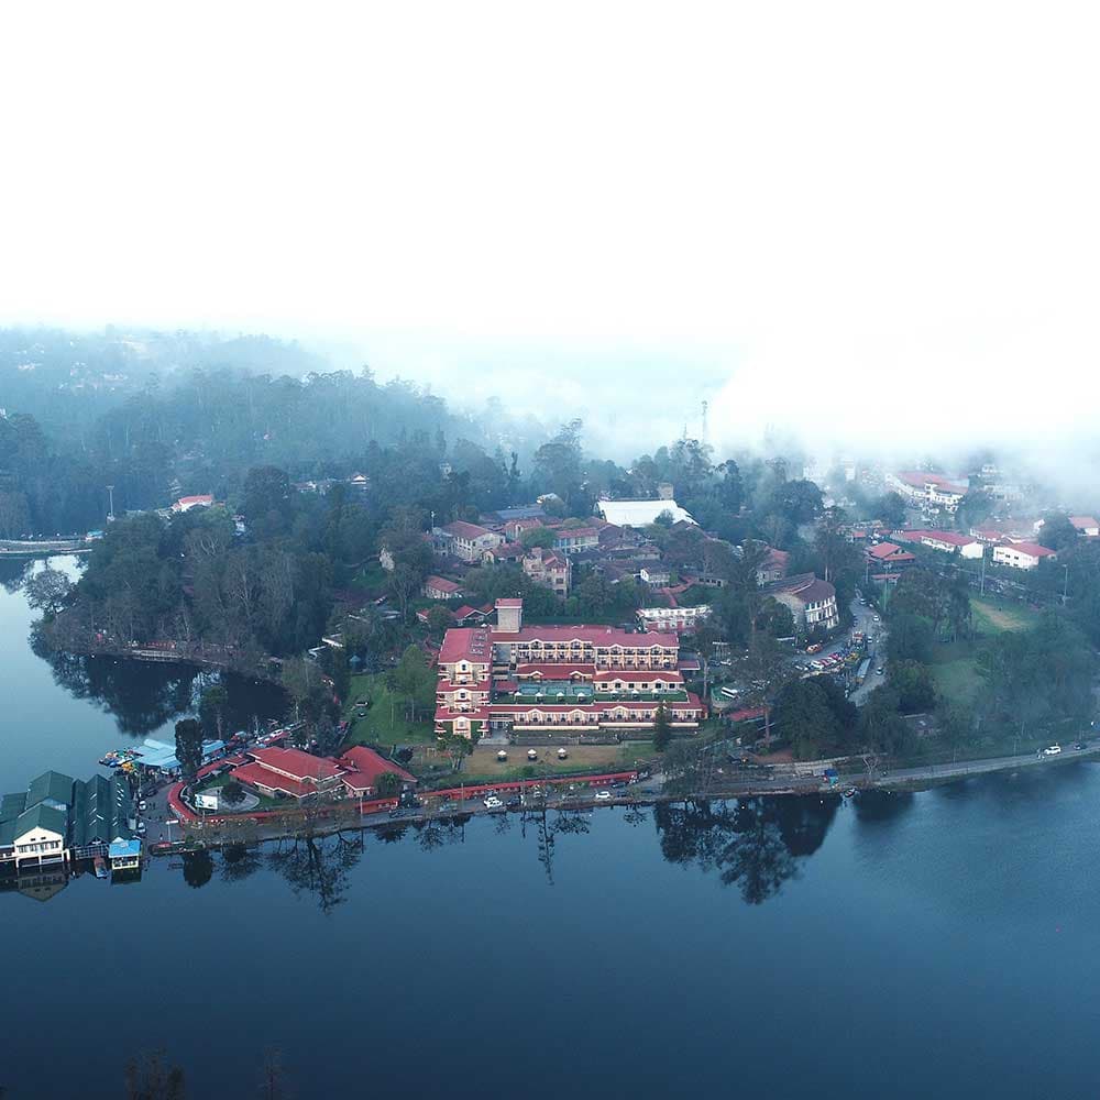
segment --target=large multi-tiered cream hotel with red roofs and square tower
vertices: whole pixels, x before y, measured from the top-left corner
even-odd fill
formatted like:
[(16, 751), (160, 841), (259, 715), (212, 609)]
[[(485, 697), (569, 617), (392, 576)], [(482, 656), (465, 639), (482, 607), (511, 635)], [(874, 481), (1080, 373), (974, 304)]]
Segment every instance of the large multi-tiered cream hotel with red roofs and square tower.
[(650, 729), (663, 703), (674, 729), (705, 716), (684, 689), (675, 634), (602, 626), (524, 626), (522, 601), (497, 624), (448, 630), (439, 652), (436, 732), (606, 734)]

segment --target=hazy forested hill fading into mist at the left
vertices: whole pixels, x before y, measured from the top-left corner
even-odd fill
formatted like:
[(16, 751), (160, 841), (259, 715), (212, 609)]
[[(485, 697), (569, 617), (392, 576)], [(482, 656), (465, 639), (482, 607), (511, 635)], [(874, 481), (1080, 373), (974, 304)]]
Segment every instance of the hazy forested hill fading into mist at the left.
[(0, 537), (102, 527), (108, 485), (121, 515), (185, 494), (224, 499), (255, 466), (295, 481), (384, 476), (391, 448), (410, 444), (406, 469), (436, 468), (448, 447), (486, 442), (415, 385), (321, 365), (267, 338), (0, 332)]

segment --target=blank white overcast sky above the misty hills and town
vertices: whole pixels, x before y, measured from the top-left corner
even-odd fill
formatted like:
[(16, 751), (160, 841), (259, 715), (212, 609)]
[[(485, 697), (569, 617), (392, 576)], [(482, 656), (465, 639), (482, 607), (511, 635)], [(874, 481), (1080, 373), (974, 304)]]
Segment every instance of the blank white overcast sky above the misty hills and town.
[(11, 4), (0, 319), (354, 340), (443, 391), (484, 356), (543, 413), (603, 367), (662, 425), (708, 398), (716, 442), (1076, 440), (1097, 19)]

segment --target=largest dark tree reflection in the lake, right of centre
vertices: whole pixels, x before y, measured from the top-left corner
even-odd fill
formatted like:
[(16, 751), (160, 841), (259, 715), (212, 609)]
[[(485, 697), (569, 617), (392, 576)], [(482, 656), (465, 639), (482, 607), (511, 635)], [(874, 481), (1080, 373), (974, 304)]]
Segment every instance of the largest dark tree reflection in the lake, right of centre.
[(839, 804), (837, 796), (689, 801), (654, 806), (653, 820), (669, 862), (717, 871), (759, 905), (821, 847)]

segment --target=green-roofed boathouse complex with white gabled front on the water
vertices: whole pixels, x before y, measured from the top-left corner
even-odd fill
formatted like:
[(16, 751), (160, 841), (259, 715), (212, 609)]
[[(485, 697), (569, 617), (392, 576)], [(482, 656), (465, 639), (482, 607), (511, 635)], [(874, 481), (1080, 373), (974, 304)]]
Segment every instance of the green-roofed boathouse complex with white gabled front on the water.
[[(26, 791), (6, 794), (0, 801), (0, 862), (24, 868), (64, 867), (97, 856), (119, 854), (116, 870), (132, 866), (121, 849), (132, 849), (136, 821), (130, 780), (116, 772), (110, 779), (95, 776), (87, 782), (58, 771), (47, 771)], [(139, 866), (140, 866), (140, 842)]]

